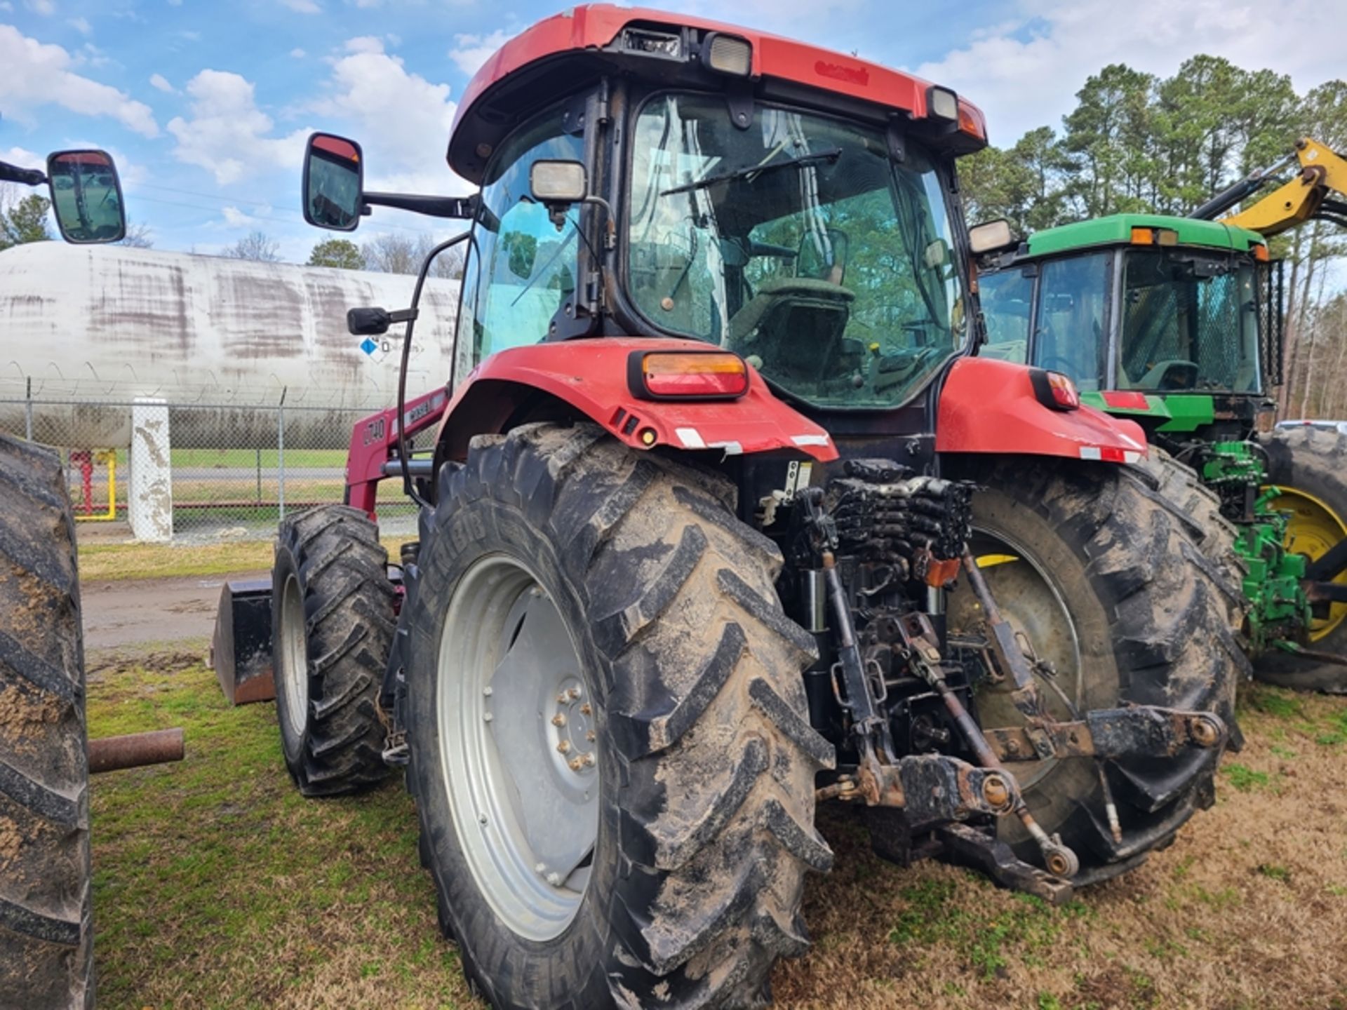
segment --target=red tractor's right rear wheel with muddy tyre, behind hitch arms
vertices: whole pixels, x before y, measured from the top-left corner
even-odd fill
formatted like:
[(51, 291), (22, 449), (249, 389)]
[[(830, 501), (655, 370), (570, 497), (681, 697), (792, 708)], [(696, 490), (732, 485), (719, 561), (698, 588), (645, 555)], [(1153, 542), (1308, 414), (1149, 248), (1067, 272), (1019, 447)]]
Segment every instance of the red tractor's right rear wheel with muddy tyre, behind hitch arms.
[[(1070, 461), (979, 461), (960, 475), (974, 494), (974, 553), (1005, 615), (1024, 630), (1079, 712), (1125, 703), (1219, 715), (1238, 742), (1235, 685), (1249, 661), (1235, 629), (1243, 598), (1223, 566), (1199, 545), (1206, 536), (1161, 481), (1140, 467)], [(950, 607), (952, 629), (981, 622), (971, 590)], [(983, 727), (1017, 726), (1009, 681), (978, 694)], [(1059, 719), (1067, 707), (1044, 689)], [(1220, 754), (1188, 750), (1172, 760), (1105, 762), (1121, 842), (1106, 816), (1099, 764), (1091, 758), (1009, 765), (1049, 834), (1080, 859), (1076, 883), (1138, 865), (1214, 800)], [(1001, 820), (1021, 859), (1041, 865), (1013, 817)]]

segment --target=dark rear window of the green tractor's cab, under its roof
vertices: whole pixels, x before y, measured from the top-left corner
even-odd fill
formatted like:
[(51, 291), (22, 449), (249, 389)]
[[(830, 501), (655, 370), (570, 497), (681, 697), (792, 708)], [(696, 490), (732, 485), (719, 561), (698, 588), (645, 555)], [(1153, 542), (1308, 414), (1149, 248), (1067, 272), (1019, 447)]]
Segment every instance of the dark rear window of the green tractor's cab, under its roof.
[(1118, 384), (1258, 392), (1253, 264), (1187, 249), (1127, 253)]

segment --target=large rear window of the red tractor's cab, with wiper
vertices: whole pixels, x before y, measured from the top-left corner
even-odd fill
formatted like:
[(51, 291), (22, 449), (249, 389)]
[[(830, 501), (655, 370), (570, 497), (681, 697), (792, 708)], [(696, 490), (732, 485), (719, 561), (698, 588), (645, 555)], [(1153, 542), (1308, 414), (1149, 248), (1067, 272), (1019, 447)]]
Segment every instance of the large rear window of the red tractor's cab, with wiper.
[(912, 396), (963, 343), (940, 178), (881, 131), (660, 94), (633, 143), (628, 283), (656, 327), (729, 347), (818, 405)]

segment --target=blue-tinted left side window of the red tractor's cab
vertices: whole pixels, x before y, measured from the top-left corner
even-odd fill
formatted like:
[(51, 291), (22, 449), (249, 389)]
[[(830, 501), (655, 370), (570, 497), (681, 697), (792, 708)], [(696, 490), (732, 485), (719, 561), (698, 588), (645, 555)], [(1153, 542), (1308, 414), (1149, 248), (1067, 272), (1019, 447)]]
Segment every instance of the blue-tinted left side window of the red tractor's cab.
[(562, 131), (560, 108), (511, 136), (488, 166), (463, 273), (458, 380), (498, 350), (541, 341), (574, 296), (579, 207), (558, 228), (528, 191), (533, 162), (550, 158), (585, 158), (583, 137)]

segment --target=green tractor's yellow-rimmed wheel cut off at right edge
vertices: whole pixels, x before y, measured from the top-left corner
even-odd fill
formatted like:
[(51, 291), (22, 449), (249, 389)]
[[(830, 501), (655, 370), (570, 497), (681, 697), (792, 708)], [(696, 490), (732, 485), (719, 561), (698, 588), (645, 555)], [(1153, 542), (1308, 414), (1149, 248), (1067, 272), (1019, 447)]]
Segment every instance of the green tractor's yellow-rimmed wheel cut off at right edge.
[[(1274, 509), (1290, 513), (1286, 549), (1311, 559), (1340, 539), (1347, 523), (1347, 438), (1309, 426), (1278, 428), (1262, 439), (1268, 482), (1282, 489)], [(1347, 582), (1347, 575), (1336, 582)], [(1307, 648), (1347, 654), (1347, 605), (1334, 603), (1316, 619)], [(1300, 691), (1347, 694), (1347, 667), (1269, 650), (1254, 663), (1254, 676)]]

